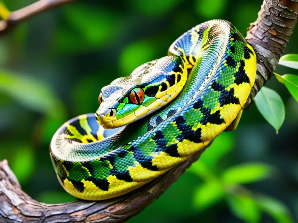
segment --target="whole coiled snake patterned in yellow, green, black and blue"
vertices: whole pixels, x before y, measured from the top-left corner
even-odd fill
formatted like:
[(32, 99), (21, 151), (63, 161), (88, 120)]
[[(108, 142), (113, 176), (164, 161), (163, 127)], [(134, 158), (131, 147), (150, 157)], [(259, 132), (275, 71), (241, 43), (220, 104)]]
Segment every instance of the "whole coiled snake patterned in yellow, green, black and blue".
[(237, 127), (256, 69), (254, 49), (232, 23), (193, 27), (167, 56), (103, 87), (95, 114), (55, 132), (58, 181), (79, 199), (106, 200), (159, 178)]

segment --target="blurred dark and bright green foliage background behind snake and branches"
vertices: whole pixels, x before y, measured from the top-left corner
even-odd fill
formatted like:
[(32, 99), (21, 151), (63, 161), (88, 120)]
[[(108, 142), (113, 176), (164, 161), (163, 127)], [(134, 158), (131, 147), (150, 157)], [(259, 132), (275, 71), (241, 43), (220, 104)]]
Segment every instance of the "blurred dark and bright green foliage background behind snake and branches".
[[(34, 1), (4, 0), (9, 10)], [(77, 1), (0, 36), (0, 160), (47, 203), (75, 200), (56, 178), (57, 128), (95, 112), (100, 89), (167, 54), (183, 32), (226, 19), (245, 36), (261, 0)], [(298, 28), (285, 53), (298, 52)], [(278, 66), (277, 73), (297, 74)], [(278, 134), (253, 104), (158, 200), (129, 222), (298, 222), (298, 103), (273, 77), (286, 118)]]

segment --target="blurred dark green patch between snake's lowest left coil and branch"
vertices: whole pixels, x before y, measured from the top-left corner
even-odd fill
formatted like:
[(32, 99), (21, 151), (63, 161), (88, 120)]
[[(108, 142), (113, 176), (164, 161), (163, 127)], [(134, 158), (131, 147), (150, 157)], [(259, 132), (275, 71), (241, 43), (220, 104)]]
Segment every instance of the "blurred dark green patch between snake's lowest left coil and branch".
[(77, 198), (70, 195), (69, 193), (66, 193), (65, 191), (45, 191), (41, 193), (36, 200), (47, 204), (59, 204), (75, 201)]

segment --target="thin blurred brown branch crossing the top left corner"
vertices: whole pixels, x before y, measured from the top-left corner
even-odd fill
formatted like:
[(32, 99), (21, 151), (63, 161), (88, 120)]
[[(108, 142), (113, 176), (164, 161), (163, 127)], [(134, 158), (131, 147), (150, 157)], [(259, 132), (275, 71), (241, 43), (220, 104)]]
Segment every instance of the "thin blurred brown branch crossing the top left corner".
[(0, 33), (32, 16), (72, 1), (76, 0), (40, 0), (24, 8), (10, 12), (7, 19), (0, 21)]

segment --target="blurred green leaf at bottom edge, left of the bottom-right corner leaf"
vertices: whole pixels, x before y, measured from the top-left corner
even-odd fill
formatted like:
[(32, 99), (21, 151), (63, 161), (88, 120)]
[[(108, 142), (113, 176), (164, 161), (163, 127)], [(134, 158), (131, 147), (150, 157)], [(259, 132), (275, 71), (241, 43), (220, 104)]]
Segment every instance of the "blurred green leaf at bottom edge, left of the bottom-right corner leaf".
[(261, 211), (252, 197), (248, 195), (229, 195), (227, 202), (232, 213), (245, 222), (255, 223), (260, 221)]

